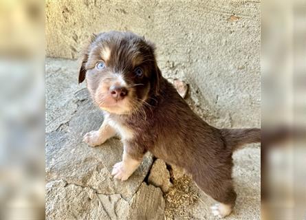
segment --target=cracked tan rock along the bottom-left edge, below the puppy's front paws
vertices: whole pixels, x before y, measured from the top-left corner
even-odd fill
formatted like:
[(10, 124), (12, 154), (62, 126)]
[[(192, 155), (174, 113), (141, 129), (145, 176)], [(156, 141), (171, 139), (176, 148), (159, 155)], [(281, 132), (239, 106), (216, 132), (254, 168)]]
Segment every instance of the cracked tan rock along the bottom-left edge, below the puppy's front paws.
[(46, 185), (46, 219), (164, 219), (160, 188), (142, 183), (131, 201), (120, 194), (103, 195), (89, 187), (67, 184), (63, 179)]

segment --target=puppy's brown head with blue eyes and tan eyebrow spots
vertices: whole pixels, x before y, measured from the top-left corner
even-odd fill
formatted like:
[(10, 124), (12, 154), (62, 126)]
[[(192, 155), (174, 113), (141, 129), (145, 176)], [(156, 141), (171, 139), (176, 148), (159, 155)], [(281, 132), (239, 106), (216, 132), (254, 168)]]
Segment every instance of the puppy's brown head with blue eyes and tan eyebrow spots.
[(160, 89), (154, 46), (131, 32), (93, 36), (83, 55), (78, 83), (87, 81), (95, 104), (105, 111), (130, 114)]

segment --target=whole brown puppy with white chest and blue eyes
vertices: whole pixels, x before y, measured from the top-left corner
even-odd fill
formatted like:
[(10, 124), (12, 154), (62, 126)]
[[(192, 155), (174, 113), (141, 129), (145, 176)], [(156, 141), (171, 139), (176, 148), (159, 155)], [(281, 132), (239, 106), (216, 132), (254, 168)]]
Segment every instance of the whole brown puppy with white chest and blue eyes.
[(212, 213), (230, 214), (236, 200), (232, 185), (232, 152), (260, 142), (259, 129), (217, 129), (196, 115), (162, 77), (154, 46), (131, 32), (107, 32), (91, 39), (80, 68), (92, 99), (105, 112), (98, 131), (84, 137), (98, 146), (119, 134), (122, 162), (112, 175), (126, 180), (150, 151), (190, 173), (201, 190), (219, 203)]

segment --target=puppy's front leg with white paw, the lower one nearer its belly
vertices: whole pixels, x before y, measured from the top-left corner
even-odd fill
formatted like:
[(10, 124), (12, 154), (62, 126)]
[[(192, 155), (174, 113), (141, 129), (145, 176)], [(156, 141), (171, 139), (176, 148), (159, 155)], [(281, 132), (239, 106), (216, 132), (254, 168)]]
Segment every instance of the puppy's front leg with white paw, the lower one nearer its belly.
[[(116, 179), (120, 179), (121, 181), (129, 179), (129, 177), (141, 164), (144, 154), (131, 151), (135, 151), (135, 149), (131, 148), (129, 144), (124, 144), (122, 162), (115, 164), (113, 166), (113, 171), (111, 172), (111, 175), (113, 175), (113, 177)], [(135, 155), (138, 156), (135, 157)]]

